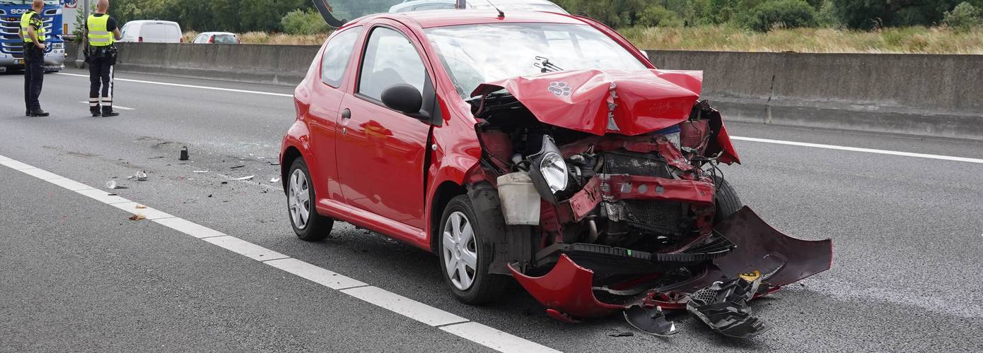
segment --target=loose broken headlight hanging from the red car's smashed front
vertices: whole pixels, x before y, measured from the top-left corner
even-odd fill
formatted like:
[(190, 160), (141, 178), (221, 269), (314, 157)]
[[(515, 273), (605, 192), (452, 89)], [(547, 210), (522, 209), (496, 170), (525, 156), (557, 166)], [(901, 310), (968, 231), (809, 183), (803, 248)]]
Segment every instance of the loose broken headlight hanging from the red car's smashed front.
[(559, 148), (549, 135), (543, 136), (543, 147), (536, 154), (529, 156), (530, 171), (533, 185), (544, 200), (556, 203), (556, 192), (566, 189), (569, 179), (566, 161), (560, 154)]

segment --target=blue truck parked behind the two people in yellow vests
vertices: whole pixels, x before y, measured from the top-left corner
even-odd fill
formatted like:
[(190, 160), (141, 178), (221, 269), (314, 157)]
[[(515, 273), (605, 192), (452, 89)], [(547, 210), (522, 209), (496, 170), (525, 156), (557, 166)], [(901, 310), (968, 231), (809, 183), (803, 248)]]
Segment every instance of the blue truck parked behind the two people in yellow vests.
[[(24, 70), (24, 41), (18, 36), (21, 16), (30, 10), (31, 0), (0, 0), (0, 73)], [(65, 67), (65, 9), (76, 0), (44, 0), (41, 14), (47, 30), (44, 71), (57, 72)], [(74, 21), (74, 19), (72, 19)]]

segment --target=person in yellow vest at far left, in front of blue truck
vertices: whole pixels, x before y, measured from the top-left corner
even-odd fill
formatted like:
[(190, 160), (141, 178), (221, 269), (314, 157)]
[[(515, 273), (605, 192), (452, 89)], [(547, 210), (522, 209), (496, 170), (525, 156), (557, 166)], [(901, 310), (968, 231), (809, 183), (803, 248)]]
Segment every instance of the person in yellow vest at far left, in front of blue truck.
[(47, 117), (48, 113), (41, 110), (38, 100), (41, 96), (41, 86), (44, 82), (44, 51), (47, 40), (44, 21), (41, 13), (44, 11), (44, 1), (34, 0), (30, 10), (21, 16), (21, 38), (24, 38), (24, 105), (25, 115), (29, 117)]

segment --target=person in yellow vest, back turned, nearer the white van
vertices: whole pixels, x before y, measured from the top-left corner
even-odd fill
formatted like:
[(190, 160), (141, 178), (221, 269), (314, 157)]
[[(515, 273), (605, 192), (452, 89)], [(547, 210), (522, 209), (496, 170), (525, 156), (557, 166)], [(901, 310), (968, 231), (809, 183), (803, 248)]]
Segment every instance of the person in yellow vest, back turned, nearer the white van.
[[(109, 12), (109, 0), (99, 0), (95, 13), (86, 20), (86, 62), (88, 63), (88, 111), (92, 117), (115, 117), (113, 111), (113, 66), (116, 43), (123, 37), (116, 19)], [(101, 109), (100, 109), (101, 105)]]

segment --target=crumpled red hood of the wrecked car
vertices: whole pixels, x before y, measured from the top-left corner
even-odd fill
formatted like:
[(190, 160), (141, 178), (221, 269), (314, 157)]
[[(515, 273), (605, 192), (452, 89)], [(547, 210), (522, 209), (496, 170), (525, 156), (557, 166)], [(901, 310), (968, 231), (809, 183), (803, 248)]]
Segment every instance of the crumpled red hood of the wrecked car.
[(686, 121), (700, 97), (703, 72), (563, 71), (482, 83), (472, 96), (502, 88), (540, 122), (598, 135), (638, 135)]

